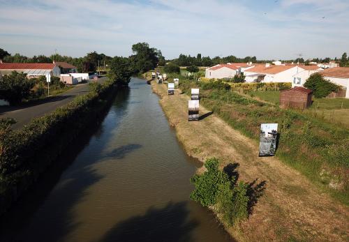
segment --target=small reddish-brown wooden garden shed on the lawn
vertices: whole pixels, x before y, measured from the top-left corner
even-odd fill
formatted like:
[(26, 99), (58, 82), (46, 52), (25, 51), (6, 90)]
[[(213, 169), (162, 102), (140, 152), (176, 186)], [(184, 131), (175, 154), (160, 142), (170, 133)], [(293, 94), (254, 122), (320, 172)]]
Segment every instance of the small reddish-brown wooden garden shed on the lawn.
[(306, 109), (311, 106), (311, 97), (313, 91), (302, 86), (296, 86), (292, 89), (283, 90), (280, 92), (281, 107), (296, 107)]

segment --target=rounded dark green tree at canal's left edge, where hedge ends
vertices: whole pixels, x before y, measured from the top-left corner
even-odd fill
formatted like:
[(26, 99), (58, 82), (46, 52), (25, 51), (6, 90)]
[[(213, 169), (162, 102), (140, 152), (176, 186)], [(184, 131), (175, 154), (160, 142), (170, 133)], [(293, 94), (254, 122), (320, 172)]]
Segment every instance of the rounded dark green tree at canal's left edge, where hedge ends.
[(116, 80), (121, 85), (128, 85), (131, 80), (133, 70), (128, 58), (115, 56), (110, 61), (110, 71), (107, 73), (107, 77), (110, 80)]

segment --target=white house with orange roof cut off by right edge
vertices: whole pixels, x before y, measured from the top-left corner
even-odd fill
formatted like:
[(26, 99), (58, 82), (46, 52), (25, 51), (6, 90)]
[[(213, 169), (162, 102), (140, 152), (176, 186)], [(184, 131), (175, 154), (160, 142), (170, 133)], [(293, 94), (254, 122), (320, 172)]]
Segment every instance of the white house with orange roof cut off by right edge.
[(349, 67), (334, 67), (320, 71), (322, 77), (341, 86), (349, 98)]

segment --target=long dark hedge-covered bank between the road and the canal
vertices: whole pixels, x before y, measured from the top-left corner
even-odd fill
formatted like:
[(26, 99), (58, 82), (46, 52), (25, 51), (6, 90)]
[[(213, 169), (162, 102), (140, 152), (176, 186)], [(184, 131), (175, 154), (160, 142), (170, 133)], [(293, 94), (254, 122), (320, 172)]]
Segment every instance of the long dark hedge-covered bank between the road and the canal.
[(20, 130), (1, 127), (0, 213), (28, 190), (80, 133), (101, 121), (116, 91), (114, 82), (107, 81)]

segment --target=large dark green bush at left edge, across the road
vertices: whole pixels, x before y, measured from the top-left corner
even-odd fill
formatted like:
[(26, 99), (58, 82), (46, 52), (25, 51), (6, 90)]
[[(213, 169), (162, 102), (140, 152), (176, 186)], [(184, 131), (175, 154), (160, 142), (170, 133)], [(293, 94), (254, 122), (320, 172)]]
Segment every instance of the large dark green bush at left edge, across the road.
[(28, 79), (27, 74), (13, 71), (0, 79), (0, 98), (8, 100), (10, 105), (21, 103), (23, 98), (29, 97), (34, 84), (34, 80)]

